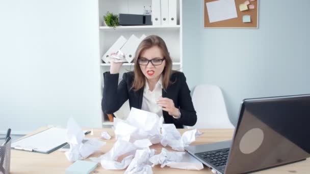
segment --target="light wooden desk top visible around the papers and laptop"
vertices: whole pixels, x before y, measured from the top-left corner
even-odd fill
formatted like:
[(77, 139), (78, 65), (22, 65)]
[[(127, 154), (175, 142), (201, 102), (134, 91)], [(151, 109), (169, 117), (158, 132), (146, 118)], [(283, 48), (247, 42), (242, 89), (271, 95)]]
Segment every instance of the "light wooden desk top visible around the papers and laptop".
[[(41, 128), (35, 132), (42, 131), (44, 128)], [(87, 129), (90, 130), (90, 129)], [(187, 129), (179, 129), (181, 133)], [(87, 135), (87, 138), (91, 137), (100, 137), (102, 131), (109, 132), (112, 135), (110, 140), (106, 141), (106, 146), (102, 147), (101, 152), (97, 152), (90, 157), (99, 157), (102, 154), (108, 152), (116, 141), (114, 137), (114, 132), (112, 129), (94, 129), (94, 135)], [(231, 139), (234, 131), (231, 129), (199, 129), (203, 134), (196, 139), (192, 144), (203, 144), (210, 142), (217, 142), (222, 140)], [(35, 133), (34, 132), (34, 133)], [(161, 144), (155, 144), (151, 146), (152, 149), (156, 149), (157, 153), (161, 152)], [(166, 147), (166, 149), (171, 151), (171, 148)], [(89, 159), (87, 159), (89, 160)], [(65, 173), (65, 169), (71, 163), (66, 159), (65, 154), (60, 151), (55, 151), (50, 154), (39, 154), (32, 152), (24, 151), (11, 151), (11, 172), (10, 173)], [(153, 173), (212, 173), (211, 170), (204, 166), (202, 170), (183, 170), (183, 169), (174, 169), (170, 167), (160, 168), (160, 165), (154, 166)], [(99, 164), (94, 173), (124, 173), (125, 170), (105, 170)], [(268, 170), (263, 170), (255, 173), (310, 173), (310, 160), (307, 159), (302, 162), (297, 162), (294, 164), (289, 164), (285, 166), (280, 166), (277, 168), (272, 168)]]

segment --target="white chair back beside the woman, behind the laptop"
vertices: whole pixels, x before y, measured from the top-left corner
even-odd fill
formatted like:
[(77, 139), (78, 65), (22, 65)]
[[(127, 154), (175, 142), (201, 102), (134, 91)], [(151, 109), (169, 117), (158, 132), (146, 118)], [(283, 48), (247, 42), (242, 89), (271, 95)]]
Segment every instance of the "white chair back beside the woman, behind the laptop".
[(229, 121), (221, 89), (216, 85), (197, 85), (192, 96), (197, 123), (189, 128), (235, 128)]

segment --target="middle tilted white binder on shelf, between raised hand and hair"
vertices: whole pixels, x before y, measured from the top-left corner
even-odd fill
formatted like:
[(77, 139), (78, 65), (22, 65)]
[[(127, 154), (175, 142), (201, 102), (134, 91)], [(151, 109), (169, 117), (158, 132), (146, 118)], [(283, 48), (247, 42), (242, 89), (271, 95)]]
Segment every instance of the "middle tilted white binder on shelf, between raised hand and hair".
[(122, 53), (125, 54), (125, 59), (131, 63), (134, 60), (136, 49), (138, 48), (138, 45), (140, 44), (140, 39), (137, 38), (137, 36), (132, 35), (127, 42), (123, 45), (123, 47), (120, 49)]

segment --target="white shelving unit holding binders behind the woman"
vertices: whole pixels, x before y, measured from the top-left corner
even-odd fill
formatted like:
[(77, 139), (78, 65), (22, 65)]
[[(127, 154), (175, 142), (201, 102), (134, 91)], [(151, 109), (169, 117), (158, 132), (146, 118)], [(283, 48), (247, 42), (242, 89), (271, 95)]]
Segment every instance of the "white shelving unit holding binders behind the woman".
[[(177, 0), (177, 25), (139, 25), (139, 26), (118, 26), (111, 28), (105, 26), (103, 16), (109, 11), (114, 14), (143, 14), (144, 6), (149, 8), (151, 0), (98, 0), (98, 30), (99, 30), (99, 60), (101, 69), (101, 94), (103, 90), (103, 73), (110, 70), (110, 64), (101, 60), (101, 56), (112, 46), (112, 44), (122, 35), (128, 39), (132, 34), (140, 38), (143, 34), (158, 35), (164, 39), (173, 61), (173, 69), (182, 71), (182, 0)], [(124, 63), (119, 78), (124, 72), (133, 71), (133, 63)], [(120, 79), (121, 80), (121, 79)], [(128, 101), (114, 113), (116, 117), (126, 118), (129, 112)], [(102, 113), (102, 127), (113, 125)]]

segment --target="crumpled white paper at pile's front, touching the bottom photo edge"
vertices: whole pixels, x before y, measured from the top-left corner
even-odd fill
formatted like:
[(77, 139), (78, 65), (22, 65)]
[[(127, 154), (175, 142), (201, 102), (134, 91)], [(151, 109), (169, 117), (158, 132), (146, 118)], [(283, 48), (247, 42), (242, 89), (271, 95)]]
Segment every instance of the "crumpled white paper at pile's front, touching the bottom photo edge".
[(152, 166), (149, 158), (155, 154), (154, 149), (145, 148), (137, 150), (135, 158), (132, 160), (130, 165), (127, 167), (125, 174), (152, 174)]

